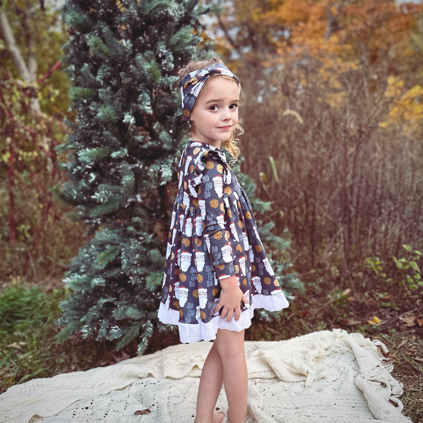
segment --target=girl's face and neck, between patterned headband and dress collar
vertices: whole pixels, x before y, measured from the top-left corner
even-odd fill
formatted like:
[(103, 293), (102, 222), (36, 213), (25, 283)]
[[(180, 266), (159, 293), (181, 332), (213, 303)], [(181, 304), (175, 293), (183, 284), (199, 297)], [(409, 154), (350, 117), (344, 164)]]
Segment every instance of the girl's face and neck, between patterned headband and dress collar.
[(233, 78), (210, 78), (191, 113), (191, 138), (220, 148), (238, 123), (239, 88)]

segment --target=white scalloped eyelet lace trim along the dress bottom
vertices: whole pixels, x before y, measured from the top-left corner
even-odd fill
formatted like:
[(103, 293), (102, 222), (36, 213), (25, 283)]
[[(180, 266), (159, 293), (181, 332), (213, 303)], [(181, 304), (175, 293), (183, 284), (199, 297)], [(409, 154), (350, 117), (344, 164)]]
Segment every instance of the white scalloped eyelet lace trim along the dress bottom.
[(157, 316), (162, 323), (177, 324), (179, 328), (179, 338), (182, 343), (192, 343), (197, 341), (211, 341), (216, 339), (218, 329), (228, 329), (240, 332), (251, 326), (255, 308), (264, 308), (268, 311), (282, 310), (289, 306), (289, 303), (283, 293), (277, 295), (256, 294), (253, 296), (253, 303), (250, 308), (242, 311), (239, 320), (235, 320), (235, 313), (232, 319), (226, 321), (220, 315), (213, 317), (208, 323), (181, 323), (179, 321), (179, 311), (167, 309), (165, 304), (160, 302)]

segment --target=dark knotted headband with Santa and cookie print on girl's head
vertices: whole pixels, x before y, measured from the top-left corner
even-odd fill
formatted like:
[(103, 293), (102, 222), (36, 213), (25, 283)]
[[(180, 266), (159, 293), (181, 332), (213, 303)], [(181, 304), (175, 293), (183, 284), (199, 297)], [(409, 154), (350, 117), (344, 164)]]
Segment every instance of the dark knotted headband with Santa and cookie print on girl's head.
[(239, 92), (241, 92), (241, 83), (239, 79), (223, 63), (215, 63), (204, 69), (192, 71), (184, 76), (181, 82), (179, 82), (179, 85), (181, 85), (182, 109), (184, 110), (184, 117), (186, 120), (190, 119), (195, 100), (197, 100), (201, 88), (203, 88), (204, 83), (211, 75), (222, 75), (233, 78), (238, 84)]

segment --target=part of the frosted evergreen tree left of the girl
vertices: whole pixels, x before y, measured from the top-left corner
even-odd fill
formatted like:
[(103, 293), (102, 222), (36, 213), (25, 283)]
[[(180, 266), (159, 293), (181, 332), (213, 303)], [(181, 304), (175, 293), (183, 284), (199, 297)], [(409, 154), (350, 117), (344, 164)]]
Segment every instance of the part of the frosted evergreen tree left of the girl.
[[(206, 9), (198, 0), (67, 0), (63, 49), (77, 121), (58, 152), (70, 182), (59, 197), (93, 239), (63, 281), (66, 325), (97, 340), (140, 335), (157, 324), (176, 168), (189, 126), (182, 119), (177, 70), (199, 59)], [(202, 58), (209, 46), (203, 42)]]

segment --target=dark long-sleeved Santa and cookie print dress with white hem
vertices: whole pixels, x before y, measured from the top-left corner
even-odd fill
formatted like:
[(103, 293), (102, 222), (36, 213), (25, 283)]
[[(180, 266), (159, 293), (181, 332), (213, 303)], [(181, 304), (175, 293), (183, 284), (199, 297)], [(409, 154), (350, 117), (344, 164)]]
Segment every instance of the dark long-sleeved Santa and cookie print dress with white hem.
[[(178, 169), (162, 300), (158, 317), (177, 324), (181, 342), (210, 341), (217, 329), (240, 331), (251, 325), (254, 308), (288, 307), (266, 257), (253, 211), (222, 149), (189, 140)], [(219, 278), (236, 276), (249, 303), (241, 316), (222, 319)]]

